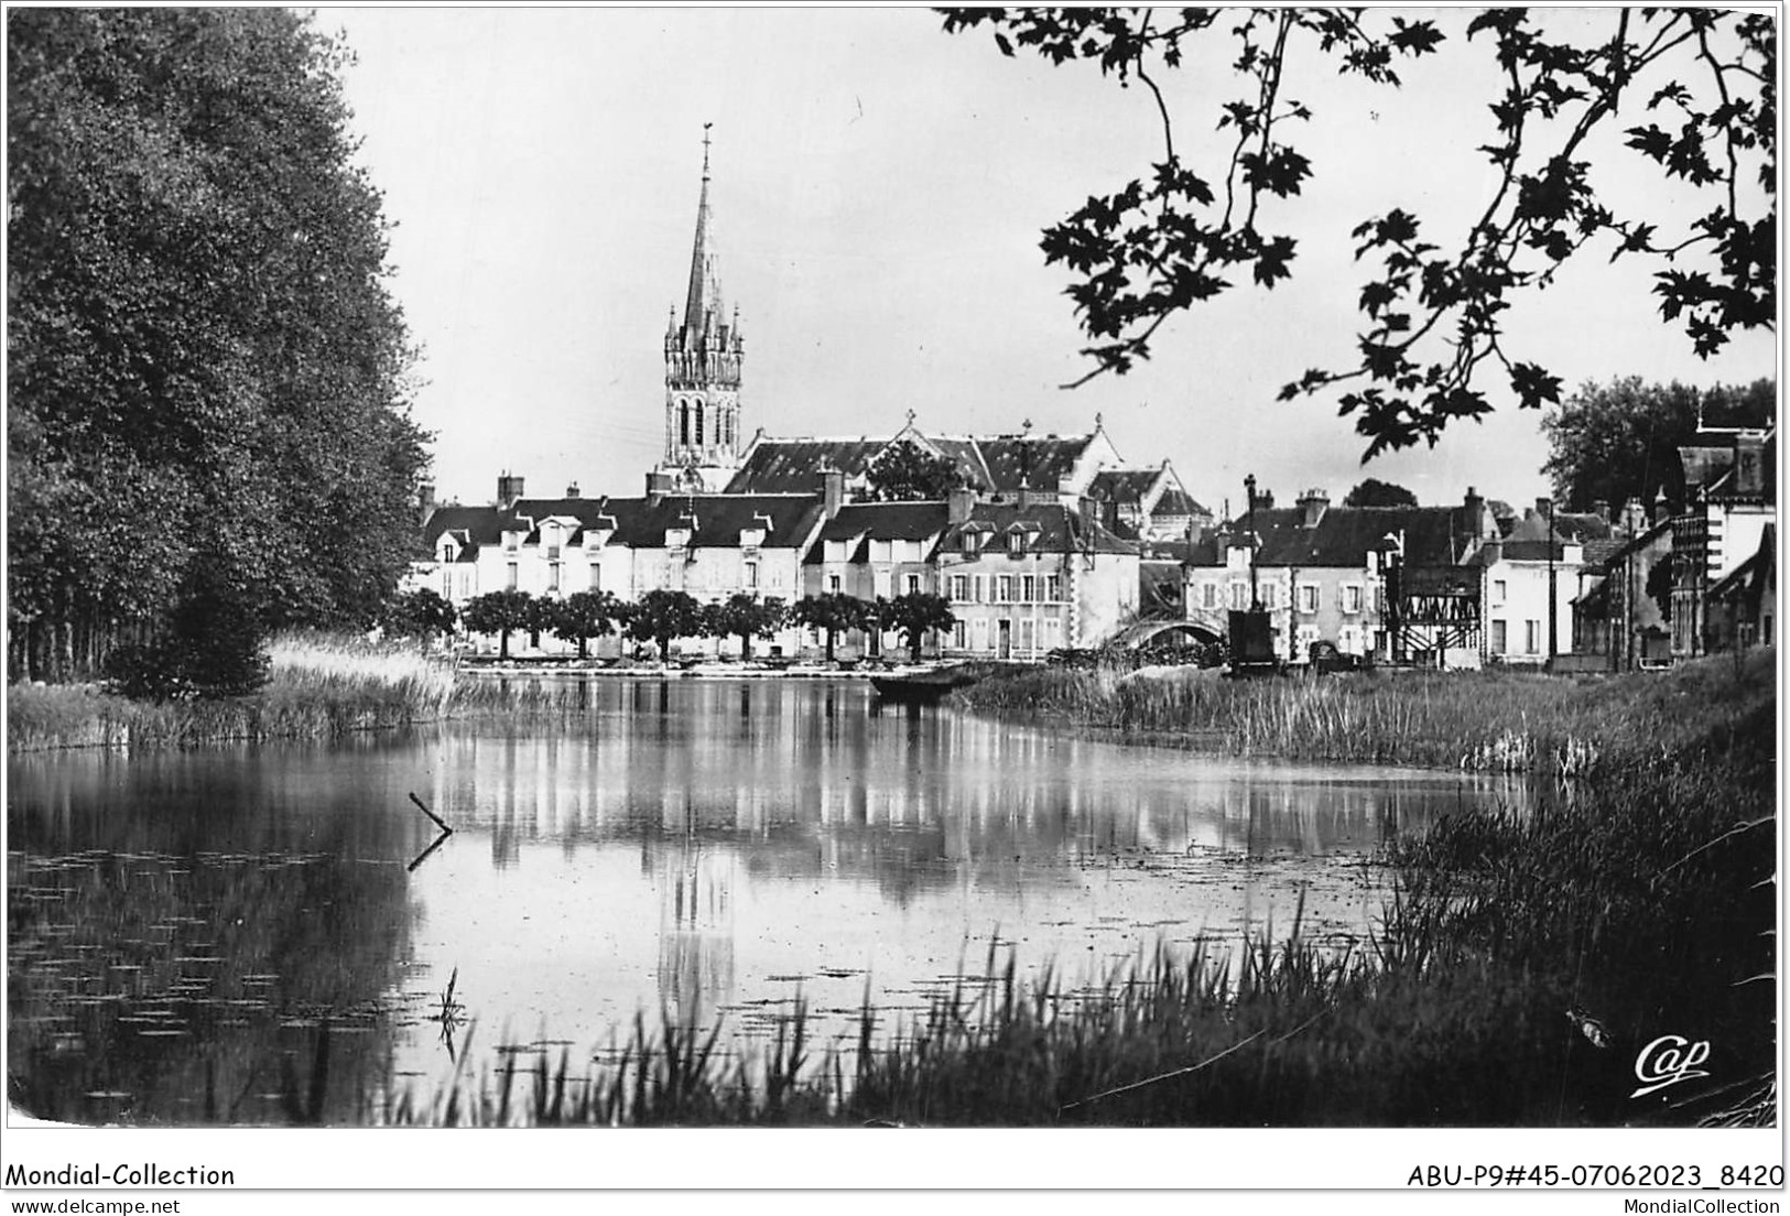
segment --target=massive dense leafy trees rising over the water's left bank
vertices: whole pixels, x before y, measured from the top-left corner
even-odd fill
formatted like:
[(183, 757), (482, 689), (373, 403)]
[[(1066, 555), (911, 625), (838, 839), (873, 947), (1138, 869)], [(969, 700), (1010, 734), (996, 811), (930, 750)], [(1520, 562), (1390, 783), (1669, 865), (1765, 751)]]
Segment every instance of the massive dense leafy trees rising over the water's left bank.
[(7, 14), (14, 670), (218, 584), (252, 630), (396, 593), (426, 453), (342, 59), (283, 9)]

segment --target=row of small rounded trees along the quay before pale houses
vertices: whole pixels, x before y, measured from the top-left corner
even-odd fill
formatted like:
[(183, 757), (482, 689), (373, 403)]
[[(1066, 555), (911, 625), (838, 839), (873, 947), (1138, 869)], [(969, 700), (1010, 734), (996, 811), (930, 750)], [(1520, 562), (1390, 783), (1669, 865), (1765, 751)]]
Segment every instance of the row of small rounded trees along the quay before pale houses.
[(804, 625), (827, 641), (832, 661), (840, 634), (881, 630), (899, 634), (908, 654), (918, 661), (929, 632), (956, 625), (950, 602), (916, 591), (893, 600), (859, 600), (827, 593), (786, 604), (777, 596), (759, 598), (737, 593), (718, 604), (703, 604), (687, 591), (648, 591), (639, 600), (619, 600), (609, 591), (575, 591), (560, 598), (526, 591), (489, 591), (474, 596), (458, 612), (430, 589), (399, 596), (387, 629), (392, 634), (433, 639), (464, 625), (474, 634), (498, 638), (498, 655), (510, 657), (510, 634), (551, 634), (578, 645), (578, 657), (589, 657), (596, 638), (621, 636), (635, 643), (653, 643), (659, 657), (671, 655), (671, 643), (682, 638), (739, 638), (741, 657), (752, 657), (754, 638), (771, 638), (784, 625)]

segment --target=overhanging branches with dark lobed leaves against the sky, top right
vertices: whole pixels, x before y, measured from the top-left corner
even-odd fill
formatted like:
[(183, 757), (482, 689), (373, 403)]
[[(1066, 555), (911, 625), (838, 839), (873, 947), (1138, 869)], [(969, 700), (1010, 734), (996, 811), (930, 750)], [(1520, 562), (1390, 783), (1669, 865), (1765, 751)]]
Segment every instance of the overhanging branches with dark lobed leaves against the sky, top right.
[[(1581, 253), (1649, 261), (1661, 319), (1700, 356), (1735, 330), (1774, 324), (1772, 13), (1613, 7), (1590, 18), (1591, 38), (1516, 7), (1461, 20), (1450, 39), (1445, 21), (1391, 9), (947, 9), (947, 32), (986, 27), (1004, 56), (1090, 61), (1156, 104), (1160, 159), (1044, 231), (1045, 261), (1070, 272), (1090, 338), (1094, 365), (1078, 383), (1149, 358), (1171, 317), (1237, 279), (1273, 288), (1292, 276), (1296, 240), (1274, 229), (1312, 181), (1296, 141), (1312, 116), (1300, 98), (1314, 70), (1394, 88), (1407, 63), (1432, 54), (1482, 54), (1498, 68), (1498, 91), (1462, 118), (1491, 116), (1470, 136), (1484, 140), (1484, 211), (1464, 236), (1405, 208), (1364, 217), (1353, 229), (1368, 267), (1355, 351), (1287, 383), (1283, 399), (1339, 390), (1368, 457), (1434, 444), (1450, 423), (1491, 412), (1495, 398), (1559, 401), (1559, 378), (1505, 349), (1504, 324)], [(1219, 64), (1230, 64), (1228, 86)], [(1228, 145), (1208, 163), (1183, 156), (1189, 141), (1178, 145), (1162, 86), (1183, 66), (1201, 73), (1196, 95), (1210, 106), (1189, 125), (1215, 127)], [(1366, 116), (1360, 125), (1371, 129)], [(1606, 131), (1665, 188), (1632, 202), (1598, 195), (1588, 140)], [(1674, 227), (1656, 199), (1684, 188), (1700, 192), (1699, 215)]]

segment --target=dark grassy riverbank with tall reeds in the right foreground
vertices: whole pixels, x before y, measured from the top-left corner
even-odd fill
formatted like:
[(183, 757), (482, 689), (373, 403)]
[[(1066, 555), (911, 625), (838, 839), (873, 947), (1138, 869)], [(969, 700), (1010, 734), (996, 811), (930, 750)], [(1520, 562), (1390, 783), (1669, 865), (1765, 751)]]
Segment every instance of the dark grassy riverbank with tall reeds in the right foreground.
[[(1545, 741), (1561, 731), (1590, 759), (1538, 811), (1450, 817), (1396, 843), (1385, 854), (1396, 894), (1364, 947), (1257, 940), (1237, 947), (1240, 967), (1217, 947), (1180, 962), (1156, 953), (1094, 990), (1015, 981), (990, 960), (983, 980), (890, 1039), (881, 1030), (874, 1039), (882, 1021), (865, 1010), (850, 1053), (816, 1053), (800, 1014), (750, 1067), (714, 1058), (705, 1033), (637, 1028), (614, 1064), (537, 1057), (533, 1067), (406, 1098), (378, 1118), (925, 1126), (1776, 1118), (1774, 655), (1586, 684), (1466, 677), (1459, 697), (1427, 679), (1325, 689), (1278, 695), (1334, 715), (1351, 706), (1355, 722), (1382, 731), (1389, 722), (1446, 729), (1375, 738), (1368, 747), (1385, 750), (1373, 758), (1443, 756), (1462, 727), (1498, 738), (1527, 724), (1527, 754), (1548, 756)], [(1228, 697), (1201, 704), (1249, 706), (1274, 693), (1246, 686), (1237, 702)], [(1720, 1064), (1634, 1098), (1638, 1055), (1659, 1035), (1720, 1044)]]

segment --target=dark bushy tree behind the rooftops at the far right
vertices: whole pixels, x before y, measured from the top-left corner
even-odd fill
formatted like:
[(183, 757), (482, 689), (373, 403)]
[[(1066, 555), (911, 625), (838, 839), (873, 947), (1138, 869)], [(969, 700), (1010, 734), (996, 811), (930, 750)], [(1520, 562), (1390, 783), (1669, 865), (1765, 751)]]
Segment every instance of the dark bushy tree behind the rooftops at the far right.
[(1627, 501), (1650, 507), (1656, 496), (1675, 509), (1684, 503), (1677, 450), (1693, 441), (1699, 421), (1769, 426), (1776, 417), (1772, 380), (1713, 389), (1647, 383), (1640, 376), (1586, 383), (1543, 415), (1548, 458), (1541, 471), (1554, 482), (1556, 500), (1572, 510), (1588, 510), (1595, 501), (1611, 510)]

